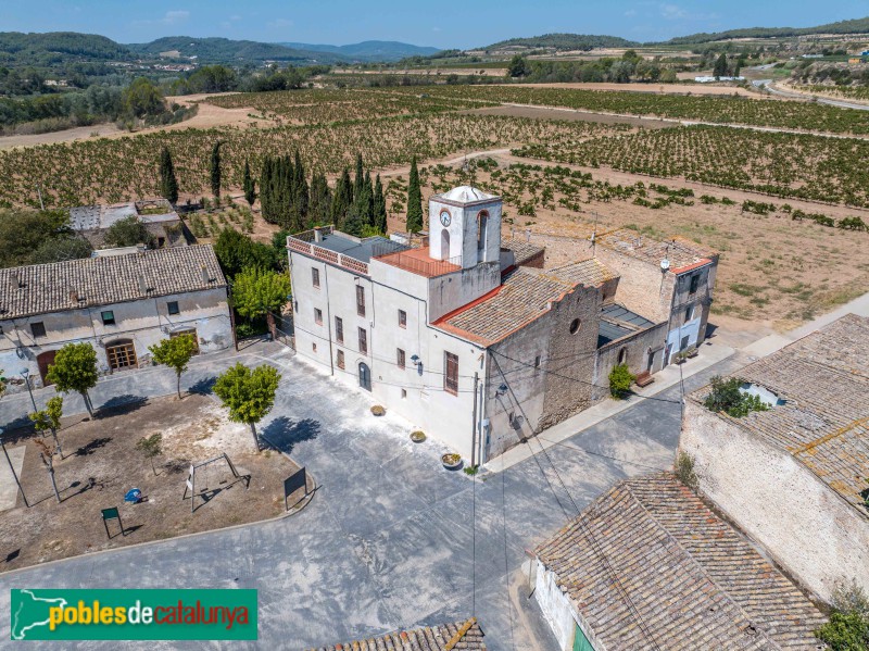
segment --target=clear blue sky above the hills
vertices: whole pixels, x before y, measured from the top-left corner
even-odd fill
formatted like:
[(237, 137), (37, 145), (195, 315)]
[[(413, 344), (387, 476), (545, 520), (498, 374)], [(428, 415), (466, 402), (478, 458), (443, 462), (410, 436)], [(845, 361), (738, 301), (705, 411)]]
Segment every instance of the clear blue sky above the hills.
[(736, 27), (806, 27), (869, 15), (869, 0), (0, 0), (0, 30), (84, 32), (118, 42), (223, 36), (468, 49), (551, 32), (665, 40)]

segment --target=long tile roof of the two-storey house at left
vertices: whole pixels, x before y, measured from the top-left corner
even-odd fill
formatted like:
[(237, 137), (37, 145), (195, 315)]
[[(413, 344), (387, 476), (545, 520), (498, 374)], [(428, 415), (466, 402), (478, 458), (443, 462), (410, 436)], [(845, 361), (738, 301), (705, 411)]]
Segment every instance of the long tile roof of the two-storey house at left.
[(215, 287), (226, 280), (211, 245), (0, 268), (0, 320)]

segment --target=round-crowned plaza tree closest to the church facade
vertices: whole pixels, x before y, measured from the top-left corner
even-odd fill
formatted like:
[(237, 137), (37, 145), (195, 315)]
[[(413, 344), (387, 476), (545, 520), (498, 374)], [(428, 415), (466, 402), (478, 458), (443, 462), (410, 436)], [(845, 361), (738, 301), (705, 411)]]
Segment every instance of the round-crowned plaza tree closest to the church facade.
[(217, 378), (214, 395), (229, 410), (229, 420), (250, 426), (253, 443), (260, 451), (256, 423), (272, 411), (280, 374), (266, 364), (253, 371), (237, 363)]

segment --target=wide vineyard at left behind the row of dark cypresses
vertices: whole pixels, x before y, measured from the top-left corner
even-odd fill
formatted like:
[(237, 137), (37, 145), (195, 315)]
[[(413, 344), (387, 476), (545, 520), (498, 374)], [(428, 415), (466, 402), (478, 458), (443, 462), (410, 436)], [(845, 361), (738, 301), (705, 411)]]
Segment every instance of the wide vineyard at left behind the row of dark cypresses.
[(255, 174), (262, 158), (299, 151), (306, 168), (327, 174), (351, 165), (356, 152), (374, 168), (487, 150), (521, 142), (557, 142), (625, 132), (624, 126), (568, 124), (496, 116), (430, 114), (339, 125), (269, 129), (185, 129), (129, 138), (95, 139), (0, 152), (0, 206), (47, 206), (118, 202), (159, 193), (158, 159), (167, 147), (182, 195), (198, 198), (210, 187), (212, 145), (224, 142), (224, 187), (241, 187), (244, 162)]

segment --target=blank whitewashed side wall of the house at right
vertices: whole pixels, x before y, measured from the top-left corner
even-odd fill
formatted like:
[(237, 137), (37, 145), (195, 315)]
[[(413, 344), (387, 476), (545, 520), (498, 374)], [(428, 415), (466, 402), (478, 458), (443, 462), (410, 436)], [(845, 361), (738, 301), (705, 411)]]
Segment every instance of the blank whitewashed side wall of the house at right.
[(869, 590), (869, 517), (791, 454), (694, 400), (680, 448), (703, 491), (810, 590), (829, 600), (852, 578)]

